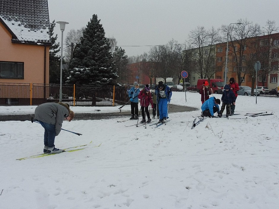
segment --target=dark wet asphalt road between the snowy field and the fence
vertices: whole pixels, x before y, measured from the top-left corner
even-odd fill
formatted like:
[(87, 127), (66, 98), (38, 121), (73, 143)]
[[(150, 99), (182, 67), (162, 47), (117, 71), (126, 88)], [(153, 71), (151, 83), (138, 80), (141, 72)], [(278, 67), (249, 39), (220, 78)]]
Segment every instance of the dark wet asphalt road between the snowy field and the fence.
[[(172, 112), (189, 112), (198, 110), (197, 108), (180, 106), (169, 104), (169, 113)], [(127, 111), (122, 112), (112, 112), (112, 113), (76, 113), (74, 116), (74, 120), (99, 120), (99, 119), (109, 119), (109, 118), (118, 118), (123, 116), (130, 117), (131, 113)], [(26, 121), (31, 120), (34, 117), (34, 114), (26, 114), (26, 115), (1, 115), (0, 113), (0, 121)]]

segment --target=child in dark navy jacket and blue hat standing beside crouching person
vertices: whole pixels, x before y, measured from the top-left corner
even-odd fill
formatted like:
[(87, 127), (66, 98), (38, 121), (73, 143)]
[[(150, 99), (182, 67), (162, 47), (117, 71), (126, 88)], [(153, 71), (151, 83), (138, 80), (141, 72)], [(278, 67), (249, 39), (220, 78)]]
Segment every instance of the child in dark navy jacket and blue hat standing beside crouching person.
[(231, 115), (231, 105), (235, 105), (235, 95), (234, 92), (232, 92), (230, 86), (226, 84), (224, 86), (223, 95), (221, 98), (222, 106), (220, 113), (223, 114), (225, 107), (226, 107), (226, 117), (229, 117)]

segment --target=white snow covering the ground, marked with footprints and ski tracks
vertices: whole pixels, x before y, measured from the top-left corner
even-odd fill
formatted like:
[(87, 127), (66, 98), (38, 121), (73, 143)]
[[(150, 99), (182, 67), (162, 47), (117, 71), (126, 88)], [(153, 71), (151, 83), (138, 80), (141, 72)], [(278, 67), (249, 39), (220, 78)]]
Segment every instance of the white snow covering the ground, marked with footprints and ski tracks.
[[(171, 103), (200, 108), (198, 93), (186, 95), (187, 102), (184, 92), (173, 92)], [(83, 135), (62, 130), (56, 147), (93, 142), (80, 151), (22, 161), (16, 159), (42, 153), (42, 126), (0, 122), (0, 208), (278, 208), (279, 98), (255, 100), (237, 98), (240, 115), (230, 118), (247, 119), (206, 118), (194, 129), (192, 116), (200, 110), (171, 113), (158, 128), (124, 126), (135, 120), (64, 122), (64, 129)], [(118, 107), (71, 109), (104, 113)], [(0, 114), (29, 114), (35, 108), (0, 106)], [(245, 116), (265, 111), (273, 115)]]

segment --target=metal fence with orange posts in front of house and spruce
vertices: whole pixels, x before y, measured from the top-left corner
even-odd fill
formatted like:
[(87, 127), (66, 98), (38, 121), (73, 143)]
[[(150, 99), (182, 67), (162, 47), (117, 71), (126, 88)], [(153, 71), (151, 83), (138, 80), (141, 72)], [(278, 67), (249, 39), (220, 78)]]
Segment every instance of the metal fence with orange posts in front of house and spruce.
[[(129, 100), (129, 87), (62, 85), (62, 102), (71, 106), (115, 106)], [(0, 105), (59, 102), (58, 84), (0, 83)]]

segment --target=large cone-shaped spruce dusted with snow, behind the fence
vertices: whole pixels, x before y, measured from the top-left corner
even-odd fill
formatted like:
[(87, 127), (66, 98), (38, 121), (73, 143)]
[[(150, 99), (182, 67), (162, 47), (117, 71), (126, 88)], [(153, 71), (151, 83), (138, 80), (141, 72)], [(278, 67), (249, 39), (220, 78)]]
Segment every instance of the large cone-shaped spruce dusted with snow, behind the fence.
[(68, 84), (114, 85), (117, 71), (110, 43), (97, 15), (88, 22), (69, 66)]

